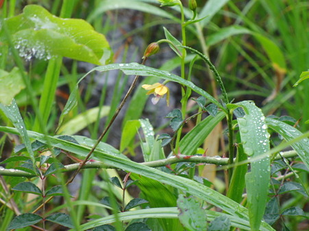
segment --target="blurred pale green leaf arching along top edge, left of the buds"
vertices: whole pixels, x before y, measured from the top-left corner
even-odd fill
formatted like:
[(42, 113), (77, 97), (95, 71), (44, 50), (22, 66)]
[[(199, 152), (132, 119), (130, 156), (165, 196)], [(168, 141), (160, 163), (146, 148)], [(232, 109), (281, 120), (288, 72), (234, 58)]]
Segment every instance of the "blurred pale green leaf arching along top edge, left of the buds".
[(166, 12), (166, 10), (162, 10), (154, 5), (150, 5), (148, 3), (145, 3), (145, 1), (136, 1), (136, 0), (130, 0), (129, 4), (127, 3), (127, 0), (102, 0), (101, 3), (97, 6), (97, 8), (90, 13), (90, 15), (87, 18), (88, 22), (92, 22), (97, 17), (101, 17), (101, 14), (103, 12), (107, 12), (109, 10), (119, 10), (119, 9), (130, 9), (130, 10), (138, 10), (141, 12), (146, 12), (149, 14), (155, 14), (158, 16), (162, 16), (164, 18), (170, 18), (175, 19), (179, 21), (178, 18), (173, 16), (173, 14), (170, 14), (169, 12)]

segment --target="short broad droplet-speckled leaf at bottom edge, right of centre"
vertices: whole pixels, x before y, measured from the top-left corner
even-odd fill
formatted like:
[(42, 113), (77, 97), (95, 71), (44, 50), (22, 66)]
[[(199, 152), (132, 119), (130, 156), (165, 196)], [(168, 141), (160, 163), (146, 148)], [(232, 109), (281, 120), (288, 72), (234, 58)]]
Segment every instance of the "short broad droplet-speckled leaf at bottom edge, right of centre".
[(177, 206), (180, 210), (180, 222), (186, 230), (207, 230), (206, 210), (201, 208), (201, 205), (195, 198), (185, 198), (184, 195), (179, 195)]

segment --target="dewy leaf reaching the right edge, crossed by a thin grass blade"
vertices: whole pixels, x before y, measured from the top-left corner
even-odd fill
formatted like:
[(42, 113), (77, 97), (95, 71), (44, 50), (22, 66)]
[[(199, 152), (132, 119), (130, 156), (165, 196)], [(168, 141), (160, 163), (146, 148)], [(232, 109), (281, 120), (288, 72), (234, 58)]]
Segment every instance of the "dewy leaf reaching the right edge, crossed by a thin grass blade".
[[(288, 125), (279, 120), (273, 120), (266, 118), (267, 125), (276, 133), (282, 135), (286, 141), (290, 141), (300, 135), (303, 135), (300, 131), (291, 125)], [(291, 147), (297, 152), (301, 161), (304, 162), (307, 168), (309, 168), (309, 139), (304, 138), (301, 141), (291, 144)]]

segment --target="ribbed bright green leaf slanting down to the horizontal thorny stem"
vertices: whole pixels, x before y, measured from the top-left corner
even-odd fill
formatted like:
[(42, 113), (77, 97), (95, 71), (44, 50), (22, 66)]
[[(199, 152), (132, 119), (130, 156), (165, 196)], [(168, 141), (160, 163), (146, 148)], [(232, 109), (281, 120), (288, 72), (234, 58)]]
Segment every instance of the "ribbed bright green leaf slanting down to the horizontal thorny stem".
[(223, 118), (225, 113), (222, 111), (217, 116), (208, 116), (195, 126), (189, 133), (187, 133), (180, 141), (180, 153), (185, 155), (195, 154), (197, 148), (203, 144), (203, 141)]

